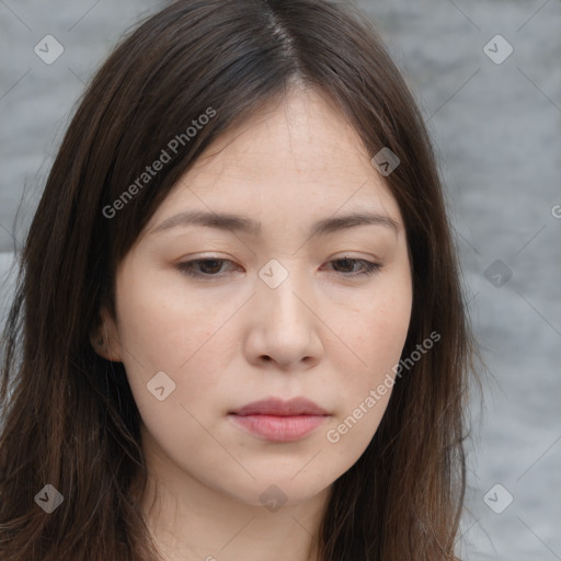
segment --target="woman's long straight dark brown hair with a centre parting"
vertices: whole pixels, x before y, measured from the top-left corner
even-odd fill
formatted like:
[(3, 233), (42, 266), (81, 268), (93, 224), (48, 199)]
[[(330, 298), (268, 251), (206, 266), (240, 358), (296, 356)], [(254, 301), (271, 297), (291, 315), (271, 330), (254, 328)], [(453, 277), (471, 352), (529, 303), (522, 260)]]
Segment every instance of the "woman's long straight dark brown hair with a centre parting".
[[(350, 4), (180, 0), (125, 37), (92, 80), (25, 241), (0, 388), (4, 561), (157, 559), (133, 490), (146, 476), (139, 412), (123, 364), (100, 357), (90, 335), (102, 305), (115, 312), (117, 264), (176, 180), (294, 81), (335, 103), (373, 157), (382, 148), (398, 156), (386, 182), (413, 271), (403, 356), (440, 335), (397, 379), (368, 448), (334, 482), (321, 561), (455, 559), (473, 345), (415, 102), (373, 25)], [(181, 137), (172, 161), (107, 218), (103, 209), (208, 107), (216, 115)], [(46, 484), (64, 497), (50, 514), (35, 500)]]

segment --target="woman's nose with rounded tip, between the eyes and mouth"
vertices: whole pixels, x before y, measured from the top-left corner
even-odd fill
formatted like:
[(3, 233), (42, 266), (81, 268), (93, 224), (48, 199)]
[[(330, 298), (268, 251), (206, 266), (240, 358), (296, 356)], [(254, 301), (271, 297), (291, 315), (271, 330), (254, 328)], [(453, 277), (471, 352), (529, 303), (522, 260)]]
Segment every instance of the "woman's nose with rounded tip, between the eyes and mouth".
[(272, 286), (257, 279), (257, 294), (250, 300), (247, 358), (260, 367), (309, 369), (323, 353), (317, 298), (294, 272), (280, 285)]

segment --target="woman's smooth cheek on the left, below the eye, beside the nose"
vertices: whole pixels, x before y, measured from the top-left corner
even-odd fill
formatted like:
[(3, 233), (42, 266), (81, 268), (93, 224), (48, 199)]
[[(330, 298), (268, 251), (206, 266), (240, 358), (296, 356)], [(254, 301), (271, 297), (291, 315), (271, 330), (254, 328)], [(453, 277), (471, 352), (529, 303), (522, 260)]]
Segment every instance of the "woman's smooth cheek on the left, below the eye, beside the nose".
[(123, 363), (145, 424), (173, 447), (186, 434), (196, 439), (208, 401), (233, 389), (224, 371), (240, 345), (228, 320), (241, 304), (193, 296), (180, 274), (147, 270), (126, 272), (117, 284)]

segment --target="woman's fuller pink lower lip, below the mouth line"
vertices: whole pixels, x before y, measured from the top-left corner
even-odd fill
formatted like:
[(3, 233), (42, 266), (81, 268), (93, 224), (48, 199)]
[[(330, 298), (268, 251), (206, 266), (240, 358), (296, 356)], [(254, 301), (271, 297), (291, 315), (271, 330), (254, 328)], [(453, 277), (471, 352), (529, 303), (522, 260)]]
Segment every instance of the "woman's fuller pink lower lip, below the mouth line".
[(318, 428), (328, 415), (228, 415), (236, 423), (267, 440), (288, 443), (298, 440)]

